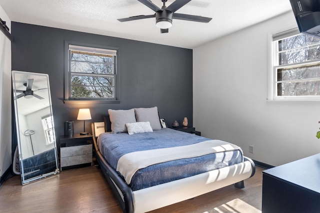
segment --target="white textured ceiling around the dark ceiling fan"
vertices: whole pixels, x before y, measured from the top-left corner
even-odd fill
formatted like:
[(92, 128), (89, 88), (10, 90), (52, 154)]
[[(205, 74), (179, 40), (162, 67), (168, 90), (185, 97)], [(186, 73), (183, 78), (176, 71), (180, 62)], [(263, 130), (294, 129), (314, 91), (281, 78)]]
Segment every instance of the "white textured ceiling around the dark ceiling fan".
[[(161, 7), (161, 0), (151, 0)], [(167, 0), (168, 6), (174, 0)], [(290, 11), (289, 0), (191, 0), (176, 12), (212, 17), (209, 23), (173, 19), (160, 33), (155, 18), (119, 22), (117, 18), (154, 14), (137, 0), (0, 0), (11, 21), (128, 38), (193, 49), (211, 40)]]

